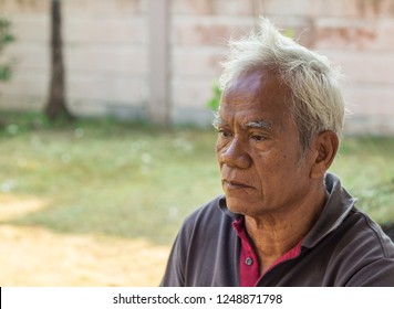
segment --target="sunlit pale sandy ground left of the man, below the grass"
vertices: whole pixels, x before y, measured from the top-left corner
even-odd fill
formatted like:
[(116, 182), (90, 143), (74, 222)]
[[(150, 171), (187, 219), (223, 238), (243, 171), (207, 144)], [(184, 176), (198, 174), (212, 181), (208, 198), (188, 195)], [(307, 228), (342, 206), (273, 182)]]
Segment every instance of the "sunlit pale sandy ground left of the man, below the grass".
[[(44, 204), (0, 196), (0, 221)], [(0, 286), (157, 286), (169, 247), (0, 223)]]

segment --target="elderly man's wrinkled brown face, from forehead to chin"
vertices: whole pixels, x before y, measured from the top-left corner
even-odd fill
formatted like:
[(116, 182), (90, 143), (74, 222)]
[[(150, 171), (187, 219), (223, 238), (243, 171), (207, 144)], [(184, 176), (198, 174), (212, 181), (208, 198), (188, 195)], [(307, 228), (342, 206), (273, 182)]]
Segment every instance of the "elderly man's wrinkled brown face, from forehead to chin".
[(224, 93), (216, 151), (232, 212), (258, 216), (296, 206), (308, 194), (311, 162), (300, 163), (287, 97), (287, 86), (267, 70), (245, 73)]

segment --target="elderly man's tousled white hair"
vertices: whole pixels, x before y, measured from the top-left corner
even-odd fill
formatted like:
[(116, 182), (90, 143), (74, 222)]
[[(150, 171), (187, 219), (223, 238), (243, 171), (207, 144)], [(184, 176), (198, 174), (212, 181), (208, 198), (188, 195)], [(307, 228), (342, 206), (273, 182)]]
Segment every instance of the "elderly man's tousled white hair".
[(224, 92), (229, 82), (247, 71), (273, 70), (290, 89), (287, 104), (298, 128), (302, 152), (322, 131), (331, 130), (340, 138), (344, 121), (344, 100), (339, 87), (341, 74), (325, 56), (282, 35), (268, 19), (261, 19), (258, 31), (249, 36), (230, 41), (229, 47), (220, 76)]

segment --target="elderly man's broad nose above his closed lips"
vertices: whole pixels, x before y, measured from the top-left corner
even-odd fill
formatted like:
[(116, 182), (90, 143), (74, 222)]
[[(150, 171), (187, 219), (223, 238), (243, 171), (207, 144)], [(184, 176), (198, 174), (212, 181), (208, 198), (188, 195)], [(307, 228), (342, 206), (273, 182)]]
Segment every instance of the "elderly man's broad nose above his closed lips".
[(248, 169), (251, 166), (251, 158), (237, 138), (234, 138), (219, 154), (220, 163), (229, 167)]

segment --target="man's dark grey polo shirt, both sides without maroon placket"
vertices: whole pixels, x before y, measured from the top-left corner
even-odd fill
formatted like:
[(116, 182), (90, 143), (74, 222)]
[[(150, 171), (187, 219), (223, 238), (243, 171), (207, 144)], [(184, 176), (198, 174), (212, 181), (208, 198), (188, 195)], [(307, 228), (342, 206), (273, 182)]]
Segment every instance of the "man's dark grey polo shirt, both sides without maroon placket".
[[(301, 254), (265, 274), (257, 286), (391, 286), (394, 244), (354, 206), (339, 178), (328, 173), (324, 210), (301, 245)], [(231, 223), (240, 215), (218, 196), (182, 226), (160, 286), (239, 286), (240, 239)]]

